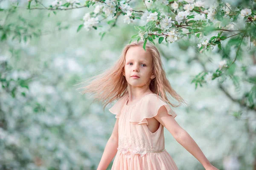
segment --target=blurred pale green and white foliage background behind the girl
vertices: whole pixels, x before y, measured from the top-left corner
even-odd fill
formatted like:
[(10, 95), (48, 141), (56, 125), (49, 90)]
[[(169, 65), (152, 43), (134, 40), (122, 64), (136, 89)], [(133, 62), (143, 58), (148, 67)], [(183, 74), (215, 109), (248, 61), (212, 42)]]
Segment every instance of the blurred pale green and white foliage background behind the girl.
[[(14, 25), (12, 36), (0, 41), (0, 170), (95, 170), (115, 123), (108, 111), (113, 103), (103, 111), (101, 102), (81, 95), (76, 84), (111, 67), (137, 33), (134, 25), (143, 23), (125, 24), (120, 17), (116, 27), (106, 24), (77, 32), (92, 8), (54, 14), (29, 11), (26, 0), (18, 2), (20, 8), (14, 12), (0, 11), (0, 25)], [(17, 1), (0, 0), (0, 8), (11, 8), (12, 3)], [(16, 29), (32, 38), (12, 39)], [(108, 29), (101, 39), (99, 32)], [(256, 77), (255, 46), (241, 47), (243, 59), (236, 61), (233, 72), (239, 81), (215, 79), (195, 89), (195, 75), (215, 71), (222, 60), (218, 48), (200, 54), (199, 42), (193, 36), (157, 44), (172, 87), (188, 102), (173, 108), (175, 119), (218, 169), (255, 170), (256, 111), (239, 103), (253, 86), (244, 79)], [(235, 54), (230, 48), (230, 58)], [(164, 133), (166, 150), (180, 170), (204, 170), (171, 133)]]

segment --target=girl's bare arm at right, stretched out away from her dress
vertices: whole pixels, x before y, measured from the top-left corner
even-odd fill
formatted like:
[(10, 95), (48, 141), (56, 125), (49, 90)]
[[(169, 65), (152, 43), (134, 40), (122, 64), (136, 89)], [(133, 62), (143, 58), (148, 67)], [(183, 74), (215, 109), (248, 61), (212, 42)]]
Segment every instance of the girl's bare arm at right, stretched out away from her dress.
[(186, 132), (176, 122), (173, 116), (167, 113), (165, 106), (161, 106), (158, 110), (157, 116), (154, 117), (172, 134), (178, 143), (180, 143), (189, 153), (195, 156), (196, 159), (204, 166), (206, 170), (218, 170), (208, 161), (204, 156), (202, 150), (198, 147), (196, 142), (192, 139), (189, 133)]

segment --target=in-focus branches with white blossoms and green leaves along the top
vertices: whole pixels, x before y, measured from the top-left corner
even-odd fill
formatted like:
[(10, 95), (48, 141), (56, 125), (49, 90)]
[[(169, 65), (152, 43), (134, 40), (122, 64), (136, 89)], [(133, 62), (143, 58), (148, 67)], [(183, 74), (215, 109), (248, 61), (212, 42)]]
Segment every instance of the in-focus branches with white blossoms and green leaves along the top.
[[(51, 10), (56, 14), (58, 10), (71, 10), (75, 8), (89, 8), (93, 6), (93, 11), (84, 14), (83, 23), (78, 26), (77, 31), (82, 28), (86, 31), (105, 26), (107, 23), (111, 27), (116, 26), (117, 19), (123, 15), (123, 22), (127, 24), (136, 23), (134, 29), (137, 34), (131, 37), (133, 40), (143, 40), (145, 44), (172, 43), (180, 39), (187, 39), (192, 36), (202, 40), (197, 45), (198, 51), (203, 53), (218, 47), (223, 53), (223, 60), (219, 62), (219, 67), (215, 72), (203, 71), (192, 80), (195, 88), (203, 83), (210, 83), (212, 80), (228, 75), (237, 81), (233, 75), (235, 62), (241, 59), (242, 42), (256, 45), (256, 14), (250, 8), (243, 6), (231, 6), (222, 1), (212, 5), (201, 0), (144, 0), (145, 10), (136, 9), (139, 2), (132, 0), (87, 0), (81, 4), (78, 0), (54, 0), (49, 6), (45, 6), (38, 0), (28, 0), (28, 9)], [(255, 6), (255, 1), (252, 2)], [(34, 4), (34, 5), (33, 5)], [(107, 31), (100, 32), (104, 37)], [(212, 35), (214, 34), (214, 35)], [(246, 39), (249, 39), (245, 42)], [(130, 41), (130, 42), (131, 42)], [(228, 41), (223, 50), (224, 41)], [(225, 51), (230, 51), (231, 46), (236, 48), (236, 56), (232, 59)], [(251, 49), (255, 51), (255, 49)], [(221, 52), (223, 51), (223, 52)], [(251, 69), (256, 71), (255, 66)], [(223, 81), (223, 80), (222, 80)], [(248, 101), (251, 108), (256, 110), (256, 80), (253, 82)]]

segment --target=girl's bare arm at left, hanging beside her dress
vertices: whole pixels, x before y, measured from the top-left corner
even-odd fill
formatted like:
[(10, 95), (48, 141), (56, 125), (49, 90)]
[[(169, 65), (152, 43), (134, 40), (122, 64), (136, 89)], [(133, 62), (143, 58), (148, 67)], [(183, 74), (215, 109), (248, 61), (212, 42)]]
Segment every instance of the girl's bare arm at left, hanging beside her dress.
[(105, 149), (104, 149), (102, 158), (99, 162), (99, 166), (97, 170), (106, 170), (108, 168), (108, 165), (116, 155), (116, 152), (117, 152), (116, 148), (118, 147), (118, 120), (119, 119), (117, 118), (113, 132), (105, 146)]

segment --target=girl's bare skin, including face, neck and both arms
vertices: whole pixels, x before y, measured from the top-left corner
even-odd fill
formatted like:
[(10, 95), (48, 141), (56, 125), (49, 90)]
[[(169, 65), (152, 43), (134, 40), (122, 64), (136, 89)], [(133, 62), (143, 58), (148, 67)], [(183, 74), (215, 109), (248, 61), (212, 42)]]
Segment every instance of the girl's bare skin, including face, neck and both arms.
[[(148, 50), (144, 51), (141, 46), (135, 46), (128, 49), (125, 56), (125, 67), (123, 72), (123, 76), (125, 76), (128, 83), (129, 98), (127, 105), (133, 105), (146, 94), (152, 93), (149, 89), (149, 83), (155, 78), (151, 71), (152, 62), (153, 59), (150, 52)], [(134, 79), (131, 77), (134, 74), (140, 78)], [(167, 113), (164, 106), (158, 110), (157, 116), (147, 120), (148, 130), (150, 130), (152, 133), (159, 128), (161, 123), (164, 127), (166, 127), (166, 129), (172, 134), (179, 144), (181, 144), (187, 151), (189, 151), (189, 153), (198, 159), (206, 170), (218, 170), (208, 161), (208, 159), (204, 156), (204, 153), (201, 151), (192, 137), (186, 132), (186, 130), (180, 127), (172, 115)], [(113, 132), (105, 146), (105, 150), (97, 170), (106, 170), (116, 155), (116, 148), (118, 147), (118, 121), (119, 119), (117, 118)]]

